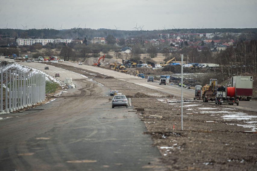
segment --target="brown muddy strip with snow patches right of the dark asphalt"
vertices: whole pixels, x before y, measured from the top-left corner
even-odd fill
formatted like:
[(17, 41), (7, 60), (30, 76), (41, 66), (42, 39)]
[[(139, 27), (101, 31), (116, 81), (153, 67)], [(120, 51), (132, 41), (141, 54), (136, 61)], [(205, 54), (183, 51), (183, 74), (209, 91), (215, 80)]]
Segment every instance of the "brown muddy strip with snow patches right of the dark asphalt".
[[(201, 101), (183, 103), (183, 130), (181, 103), (174, 97), (99, 73), (67, 65), (58, 65), (119, 90), (132, 100), (132, 106), (142, 108), (138, 117), (145, 123), (162, 154), (163, 165), (170, 170), (257, 170), (257, 134), (243, 125), (257, 123), (256, 112), (229, 108)], [(112, 97), (108, 97), (111, 99)], [(237, 120), (230, 116), (251, 116)]]

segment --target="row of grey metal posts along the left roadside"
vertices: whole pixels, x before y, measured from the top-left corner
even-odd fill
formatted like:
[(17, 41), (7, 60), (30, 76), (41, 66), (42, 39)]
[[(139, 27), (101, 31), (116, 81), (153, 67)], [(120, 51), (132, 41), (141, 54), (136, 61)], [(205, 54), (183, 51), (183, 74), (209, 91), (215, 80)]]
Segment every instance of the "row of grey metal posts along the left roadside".
[[(1, 69), (0, 114), (41, 103), (46, 97), (46, 75)], [(3, 90), (5, 89), (5, 97)], [(4, 101), (5, 99), (5, 101)], [(5, 106), (5, 110), (3, 109)]]

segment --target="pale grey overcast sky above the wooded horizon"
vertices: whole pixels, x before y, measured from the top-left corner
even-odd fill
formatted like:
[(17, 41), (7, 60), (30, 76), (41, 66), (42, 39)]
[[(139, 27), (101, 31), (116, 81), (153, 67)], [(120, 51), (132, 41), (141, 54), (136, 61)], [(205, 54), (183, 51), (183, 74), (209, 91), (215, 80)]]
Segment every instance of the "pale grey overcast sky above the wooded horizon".
[[(257, 28), (257, 0), (0, 0), (0, 28)], [(23, 26), (22, 26), (23, 25)]]

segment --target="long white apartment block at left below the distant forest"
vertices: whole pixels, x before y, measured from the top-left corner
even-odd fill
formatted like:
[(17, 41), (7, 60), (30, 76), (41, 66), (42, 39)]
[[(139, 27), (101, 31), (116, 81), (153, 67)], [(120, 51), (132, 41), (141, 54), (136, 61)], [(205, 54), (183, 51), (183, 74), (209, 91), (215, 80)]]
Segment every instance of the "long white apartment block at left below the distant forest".
[(72, 39), (17, 39), (17, 46), (31, 46), (35, 43), (42, 43), (46, 45), (47, 43), (71, 43)]

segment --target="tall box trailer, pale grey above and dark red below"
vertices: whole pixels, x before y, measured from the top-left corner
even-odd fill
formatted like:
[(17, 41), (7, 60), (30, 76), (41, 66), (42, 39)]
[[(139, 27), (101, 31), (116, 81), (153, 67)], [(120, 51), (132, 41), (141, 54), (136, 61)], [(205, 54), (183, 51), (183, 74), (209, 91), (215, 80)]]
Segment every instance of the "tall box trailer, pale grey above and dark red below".
[(252, 99), (252, 76), (233, 76), (231, 78), (231, 87), (236, 88), (236, 98), (239, 100), (249, 101)]

